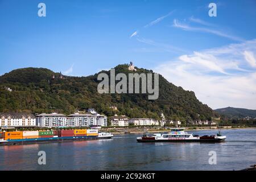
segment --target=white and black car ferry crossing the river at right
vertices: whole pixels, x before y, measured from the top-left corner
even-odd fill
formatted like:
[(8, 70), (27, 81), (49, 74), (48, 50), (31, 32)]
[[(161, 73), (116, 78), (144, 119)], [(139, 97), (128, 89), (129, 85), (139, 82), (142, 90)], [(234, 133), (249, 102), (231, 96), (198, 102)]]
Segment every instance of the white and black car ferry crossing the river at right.
[(170, 133), (167, 134), (153, 134), (148, 136), (144, 134), (143, 137), (138, 137), (138, 142), (222, 142), (226, 136), (221, 135), (219, 130), (216, 135), (193, 135), (185, 132), (185, 128), (172, 128)]

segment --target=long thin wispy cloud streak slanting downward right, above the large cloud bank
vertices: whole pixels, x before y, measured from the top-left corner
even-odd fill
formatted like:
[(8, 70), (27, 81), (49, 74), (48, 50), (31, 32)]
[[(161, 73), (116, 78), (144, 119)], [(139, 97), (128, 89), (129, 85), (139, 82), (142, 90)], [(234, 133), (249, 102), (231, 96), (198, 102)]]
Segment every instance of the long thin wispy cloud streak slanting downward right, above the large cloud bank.
[(237, 36), (233, 36), (233, 35), (230, 35), (230, 34), (226, 34), (224, 32), (218, 31), (218, 30), (213, 30), (213, 29), (205, 28), (205, 27), (191, 27), (188, 24), (180, 23), (177, 19), (174, 19), (173, 26), (176, 27), (176, 28), (181, 28), (185, 31), (207, 32), (207, 33), (210, 33), (210, 34), (222, 36), (224, 38), (228, 38), (228, 39), (231, 39), (231, 40), (236, 40), (236, 41), (239, 41), (239, 42), (244, 41), (244, 39), (242, 39), (242, 38), (239, 38)]

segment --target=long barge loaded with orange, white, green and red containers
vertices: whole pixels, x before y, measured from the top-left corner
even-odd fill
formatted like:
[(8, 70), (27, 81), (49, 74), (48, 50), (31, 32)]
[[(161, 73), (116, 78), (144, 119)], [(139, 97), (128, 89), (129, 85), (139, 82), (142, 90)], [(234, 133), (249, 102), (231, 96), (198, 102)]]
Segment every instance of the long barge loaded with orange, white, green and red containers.
[(0, 133), (0, 146), (98, 140), (112, 137), (113, 134), (99, 133), (98, 130), (10, 131)]

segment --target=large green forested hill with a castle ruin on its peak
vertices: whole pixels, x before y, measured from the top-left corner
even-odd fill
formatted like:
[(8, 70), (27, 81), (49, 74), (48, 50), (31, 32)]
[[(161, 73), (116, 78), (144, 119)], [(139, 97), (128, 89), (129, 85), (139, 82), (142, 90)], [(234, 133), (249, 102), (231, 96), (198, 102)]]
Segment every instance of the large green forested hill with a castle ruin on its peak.
[[(117, 73), (134, 73), (127, 64), (115, 67)], [(137, 67), (135, 67), (137, 68)], [(110, 75), (110, 71), (103, 71)], [(151, 73), (137, 68), (137, 73)], [(55, 76), (53, 79), (52, 76)], [(100, 94), (97, 74), (87, 77), (64, 76), (45, 68), (16, 69), (0, 77), (0, 112), (73, 113), (76, 109), (95, 108), (108, 116), (159, 119), (210, 119), (218, 114), (197, 100), (195, 93), (168, 82), (159, 75), (159, 98), (148, 100), (147, 94)], [(13, 91), (10, 92), (8, 88)], [(110, 106), (116, 106), (113, 110)]]

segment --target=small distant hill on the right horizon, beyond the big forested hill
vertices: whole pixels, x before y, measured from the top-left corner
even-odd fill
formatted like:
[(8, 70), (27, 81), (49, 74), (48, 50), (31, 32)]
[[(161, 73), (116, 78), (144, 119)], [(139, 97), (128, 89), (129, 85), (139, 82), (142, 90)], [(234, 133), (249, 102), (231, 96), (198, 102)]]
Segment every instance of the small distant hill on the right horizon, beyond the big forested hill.
[(228, 118), (256, 118), (256, 110), (251, 109), (241, 109), (241, 108), (234, 108), (234, 107), (226, 107), (222, 109), (214, 110), (219, 114), (224, 114)]

